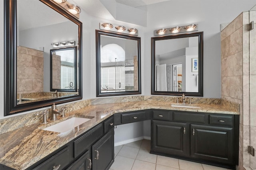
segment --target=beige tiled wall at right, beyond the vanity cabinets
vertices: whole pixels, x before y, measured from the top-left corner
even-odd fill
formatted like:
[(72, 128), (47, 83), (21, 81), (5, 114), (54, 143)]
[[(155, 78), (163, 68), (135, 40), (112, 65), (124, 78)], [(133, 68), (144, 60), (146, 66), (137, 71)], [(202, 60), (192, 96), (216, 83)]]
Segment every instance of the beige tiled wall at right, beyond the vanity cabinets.
[(239, 170), (250, 166), (247, 146), (252, 83), (248, 23), (248, 12), (243, 12), (221, 32), (221, 98), (240, 104)]

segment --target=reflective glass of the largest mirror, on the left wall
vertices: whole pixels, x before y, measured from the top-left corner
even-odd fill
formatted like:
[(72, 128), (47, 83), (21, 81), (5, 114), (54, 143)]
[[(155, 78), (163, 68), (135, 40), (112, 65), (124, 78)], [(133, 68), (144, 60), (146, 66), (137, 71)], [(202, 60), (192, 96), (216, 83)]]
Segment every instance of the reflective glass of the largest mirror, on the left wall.
[[(28, 8), (30, 9), (29, 13), (27, 12)], [(76, 23), (39, 0), (17, 1), (17, 104), (60, 97), (61, 95), (54, 94), (55, 90), (59, 93), (65, 90), (75, 92), (78, 89), (74, 79), (78, 71), (74, 69), (74, 66), (77, 65), (74, 63), (77, 62), (74, 60), (74, 55), (76, 55), (74, 49), (70, 50), (70, 53), (73, 53), (72, 59), (70, 58), (70, 63), (73, 63), (72, 80), (66, 80), (70, 82), (64, 84), (64, 78), (59, 78), (62, 80), (62, 84), (57, 84), (57, 78), (52, 74), (54, 70), (52, 70), (52, 60), (50, 59), (50, 56), (52, 57), (51, 43), (70, 40), (78, 41), (78, 25)], [(61, 51), (56, 53), (61, 53)], [(64, 69), (63, 62), (62, 69)], [(56, 74), (54, 75), (56, 76)], [(70, 88), (68, 89), (68, 87)], [(70, 93), (70, 96), (77, 94), (77, 92)], [(69, 94), (65, 94), (65, 96), (69, 96)]]

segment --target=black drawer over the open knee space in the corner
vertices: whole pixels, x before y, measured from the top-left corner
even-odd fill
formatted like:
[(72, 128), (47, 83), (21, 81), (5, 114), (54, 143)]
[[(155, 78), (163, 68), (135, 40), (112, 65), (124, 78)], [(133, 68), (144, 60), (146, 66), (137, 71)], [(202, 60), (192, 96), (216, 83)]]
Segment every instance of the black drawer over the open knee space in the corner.
[(132, 113), (123, 113), (121, 115), (122, 123), (132, 123), (146, 120), (146, 111), (136, 111)]

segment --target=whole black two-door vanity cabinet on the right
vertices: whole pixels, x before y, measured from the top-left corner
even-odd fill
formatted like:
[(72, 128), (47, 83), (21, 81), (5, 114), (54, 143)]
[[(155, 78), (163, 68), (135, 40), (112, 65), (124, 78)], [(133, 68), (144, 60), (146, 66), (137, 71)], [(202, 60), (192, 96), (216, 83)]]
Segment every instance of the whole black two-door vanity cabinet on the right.
[(239, 115), (152, 109), (150, 153), (234, 169)]

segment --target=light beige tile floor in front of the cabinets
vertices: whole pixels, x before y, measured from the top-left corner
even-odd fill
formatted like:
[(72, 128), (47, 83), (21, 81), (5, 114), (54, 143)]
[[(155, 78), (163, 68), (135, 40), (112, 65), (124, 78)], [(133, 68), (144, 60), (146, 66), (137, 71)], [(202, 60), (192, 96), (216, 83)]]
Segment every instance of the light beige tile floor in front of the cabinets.
[(110, 170), (228, 170), (216, 166), (150, 154), (150, 140), (115, 147)]

